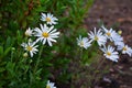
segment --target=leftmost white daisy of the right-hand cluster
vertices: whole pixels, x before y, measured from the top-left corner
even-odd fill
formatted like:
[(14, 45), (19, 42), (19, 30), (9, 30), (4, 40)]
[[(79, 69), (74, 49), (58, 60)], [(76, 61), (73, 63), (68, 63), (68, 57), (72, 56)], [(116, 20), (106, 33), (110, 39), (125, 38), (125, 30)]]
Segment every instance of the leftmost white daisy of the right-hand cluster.
[(84, 47), (84, 48), (86, 48), (86, 50), (91, 45), (87, 37), (81, 37), (80, 35), (79, 35), (79, 37), (77, 38), (77, 44), (78, 44), (80, 47)]

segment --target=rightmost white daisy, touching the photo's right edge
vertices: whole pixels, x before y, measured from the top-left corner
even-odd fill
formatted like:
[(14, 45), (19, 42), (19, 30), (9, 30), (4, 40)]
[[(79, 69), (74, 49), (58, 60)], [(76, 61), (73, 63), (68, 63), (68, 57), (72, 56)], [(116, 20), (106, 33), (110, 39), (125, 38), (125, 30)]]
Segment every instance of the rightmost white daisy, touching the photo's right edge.
[(128, 45), (120, 44), (120, 45), (118, 46), (118, 50), (119, 50), (119, 51), (122, 51), (122, 54), (128, 54), (129, 56), (132, 56), (132, 48), (129, 47)]

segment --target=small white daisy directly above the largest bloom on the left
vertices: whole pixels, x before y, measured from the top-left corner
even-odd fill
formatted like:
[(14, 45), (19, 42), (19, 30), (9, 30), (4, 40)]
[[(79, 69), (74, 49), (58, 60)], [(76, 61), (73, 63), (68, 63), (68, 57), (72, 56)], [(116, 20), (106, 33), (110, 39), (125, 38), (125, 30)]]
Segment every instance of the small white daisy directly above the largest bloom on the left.
[(58, 21), (58, 19), (57, 18), (55, 18), (53, 14), (51, 14), (51, 13), (47, 13), (47, 14), (45, 14), (45, 13), (42, 13), (42, 16), (41, 16), (41, 20), (42, 21), (46, 21), (46, 23), (47, 24), (57, 24), (57, 22), (56, 21)]

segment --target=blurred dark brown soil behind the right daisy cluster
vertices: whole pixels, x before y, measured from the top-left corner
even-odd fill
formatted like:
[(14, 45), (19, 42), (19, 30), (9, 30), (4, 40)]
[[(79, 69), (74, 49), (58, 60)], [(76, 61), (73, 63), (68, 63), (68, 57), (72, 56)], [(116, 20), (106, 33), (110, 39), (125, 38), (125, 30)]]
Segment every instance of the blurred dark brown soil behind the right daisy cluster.
[[(94, 29), (100, 21), (103, 21), (108, 29), (116, 26), (114, 30), (121, 30), (124, 42), (132, 47), (132, 0), (95, 0), (86, 25)], [(132, 57), (122, 55), (119, 63), (110, 68), (108, 76), (119, 82), (120, 88), (132, 88)]]

